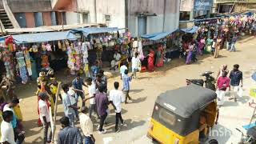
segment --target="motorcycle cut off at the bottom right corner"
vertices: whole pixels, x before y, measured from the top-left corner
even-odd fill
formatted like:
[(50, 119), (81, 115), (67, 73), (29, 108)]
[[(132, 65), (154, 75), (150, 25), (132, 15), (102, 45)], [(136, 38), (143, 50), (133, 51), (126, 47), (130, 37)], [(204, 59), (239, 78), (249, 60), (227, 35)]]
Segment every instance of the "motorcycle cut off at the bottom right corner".
[(242, 136), (240, 139), (240, 142), (238, 144), (255, 144), (256, 143), (256, 126), (251, 127), (250, 129), (247, 130), (246, 134), (243, 134), (241, 130), (236, 128)]

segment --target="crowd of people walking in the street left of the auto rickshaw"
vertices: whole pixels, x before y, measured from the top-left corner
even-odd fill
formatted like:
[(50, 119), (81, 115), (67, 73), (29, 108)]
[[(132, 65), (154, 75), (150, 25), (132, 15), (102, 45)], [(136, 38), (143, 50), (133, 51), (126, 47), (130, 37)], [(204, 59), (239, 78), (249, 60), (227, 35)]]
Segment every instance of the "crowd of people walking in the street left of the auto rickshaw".
[[(62, 94), (58, 95), (58, 97), (62, 100), (65, 116), (60, 119), (63, 129), (58, 134), (58, 142), (64, 144), (70, 142), (82, 143), (82, 136), (78, 129), (75, 128), (75, 123), (80, 122), (80, 128), (86, 139), (85, 142), (94, 143), (93, 122), (98, 122), (99, 134), (106, 133), (104, 124), (106, 124), (107, 115), (110, 114), (109, 105), (114, 107), (116, 113), (115, 131), (118, 132), (120, 130), (119, 122), (121, 122), (121, 125), (124, 124), (122, 119), (122, 102), (127, 103), (128, 99), (131, 100), (129, 95), (130, 81), (136, 75), (136, 72), (129, 76), (128, 69), (126, 68), (121, 75), (122, 90), (119, 89), (119, 82), (114, 82), (114, 90), (107, 90), (107, 78), (103, 70), (98, 70), (98, 74), (95, 74), (92, 78), (86, 78), (85, 81), (78, 73), (72, 82), (62, 84)], [(47, 77), (50, 77), (52, 80)], [(51, 133), (48, 134), (51, 118), (49, 107), (51, 106), (50, 103), (54, 104), (54, 102), (51, 102), (55, 98), (53, 98), (53, 94), (57, 93), (50, 90), (49, 86), (53, 83), (50, 81), (55, 81), (52, 74), (42, 73), (38, 78), (40, 83), (40, 86), (38, 85), (38, 122), (40, 121), (44, 128), (44, 143), (50, 142)], [(54, 86), (58, 86), (58, 84)], [(83, 86), (87, 87), (87, 93), (83, 90)], [(108, 91), (110, 91), (109, 94), (107, 93)], [(82, 106), (78, 106), (79, 98), (82, 99)], [(87, 101), (89, 101), (89, 106), (86, 106)], [(81, 114), (79, 115), (80, 109)], [(54, 111), (52, 114), (54, 114)], [(67, 139), (68, 141), (66, 141)]]

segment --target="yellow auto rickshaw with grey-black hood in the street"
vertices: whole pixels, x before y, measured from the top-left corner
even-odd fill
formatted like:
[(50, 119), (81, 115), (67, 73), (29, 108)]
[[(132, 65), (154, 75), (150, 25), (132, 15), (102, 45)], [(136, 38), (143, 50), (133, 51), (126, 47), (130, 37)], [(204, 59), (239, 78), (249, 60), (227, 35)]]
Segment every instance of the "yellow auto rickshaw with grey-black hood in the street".
[(217, 123), (217, 95), (191, 84), (160, 94), (147, 136), (162, 144), (198, 144)]

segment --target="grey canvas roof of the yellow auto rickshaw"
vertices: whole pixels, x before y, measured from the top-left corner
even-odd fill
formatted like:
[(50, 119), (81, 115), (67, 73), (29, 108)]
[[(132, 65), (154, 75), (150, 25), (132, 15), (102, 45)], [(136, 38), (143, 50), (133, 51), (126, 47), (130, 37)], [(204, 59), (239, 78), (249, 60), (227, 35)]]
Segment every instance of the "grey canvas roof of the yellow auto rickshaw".
[(217, 94), (213, 90), (191, 84), (176, 90), (167, 90), (158, 96), (156, 103), (182, 118), (190, 118), (194, 111), (216, 98)]

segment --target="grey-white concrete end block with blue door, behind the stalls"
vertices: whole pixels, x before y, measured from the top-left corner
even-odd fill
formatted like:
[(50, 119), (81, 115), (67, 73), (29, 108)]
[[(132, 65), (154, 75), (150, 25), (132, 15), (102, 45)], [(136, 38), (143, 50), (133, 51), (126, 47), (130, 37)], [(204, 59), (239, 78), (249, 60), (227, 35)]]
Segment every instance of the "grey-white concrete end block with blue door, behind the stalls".
[(153, 34), (178, 29), (179, 0), (127, 0), (126, 26), (131, 34)]

